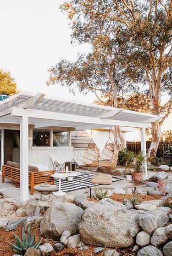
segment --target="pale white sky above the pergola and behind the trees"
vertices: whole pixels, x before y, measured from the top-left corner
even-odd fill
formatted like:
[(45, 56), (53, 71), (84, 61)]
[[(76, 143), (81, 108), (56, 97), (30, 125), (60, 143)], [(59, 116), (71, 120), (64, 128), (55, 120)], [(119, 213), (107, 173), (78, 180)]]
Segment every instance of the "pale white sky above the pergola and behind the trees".
[[(72, 46), (67, 16), (59, 10), (63, 0), (0, 1), (0, 68), (11, 72), (17, 89), (93, 102), (93, 93), (69, 94), (59, 84), (47, 87), (47, 69), (60, 59), (76, 60), (89, 46)], [(166, 96), (163, 97), (165, 103)], [(165, 121), (165, 130), (169, 127)]]

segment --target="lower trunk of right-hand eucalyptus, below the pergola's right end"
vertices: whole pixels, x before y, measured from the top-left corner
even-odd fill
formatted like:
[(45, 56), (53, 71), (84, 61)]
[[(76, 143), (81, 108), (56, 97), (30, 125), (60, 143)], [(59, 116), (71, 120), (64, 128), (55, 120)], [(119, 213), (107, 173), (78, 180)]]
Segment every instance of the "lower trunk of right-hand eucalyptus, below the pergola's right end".
[(159, 120), (152, 123), (152, 142), (148, 151), (148, 157), (155, 156), (161, 137), (161, 125)]

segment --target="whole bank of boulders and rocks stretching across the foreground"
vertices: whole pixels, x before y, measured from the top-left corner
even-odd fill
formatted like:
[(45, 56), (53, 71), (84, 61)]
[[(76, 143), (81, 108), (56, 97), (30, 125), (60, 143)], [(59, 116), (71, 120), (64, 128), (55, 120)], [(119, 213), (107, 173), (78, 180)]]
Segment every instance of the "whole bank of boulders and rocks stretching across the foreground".
[[(159, 172), (150, 178), (139, 193), (161, 193), (157, 181), (164, 180), (169, 195), (172, 193), (172, 180), (168, 174)], [(143, 190), (143, 191), (142, 191)], [(145, 191), (144, 191), (145, 190)], [(113, 193), (132, 193), (132, 188), (114, 189)], [(89, 250), (88, 245), (96, 246), (95, 253), (103, 251), (105, 256), (119, 256), (116, 248), (133, 247), (131, 253), (137, 256), (172, 256), (171, 208), (164, 206), (162, 200), (150, 200), (134, 204), (129, 199), (123, 203), (105, 198), (99, 202), (88, 200), (88, 194), (66, 195), (64, 202), (54, 203), (43, 216), (34, 216), (36, 201), (28, 200), (22, 204), (13, 198), (1, 195), (0, 209), (6, 209), (0, 218), (0, 230), (15, 230), (22, 224), (24, 231), (39, 227), (40, 234), (52, 238), (56, 243), (41, 244), (37, 249), (29, 248), (26, 256), (49, 256), (65, 248)], [(9, 219), (7, 212), (13, 216)], [(17, 220), (16, 220), (17, 219)], [(161, 248), (159, 250), (158, 248)]]

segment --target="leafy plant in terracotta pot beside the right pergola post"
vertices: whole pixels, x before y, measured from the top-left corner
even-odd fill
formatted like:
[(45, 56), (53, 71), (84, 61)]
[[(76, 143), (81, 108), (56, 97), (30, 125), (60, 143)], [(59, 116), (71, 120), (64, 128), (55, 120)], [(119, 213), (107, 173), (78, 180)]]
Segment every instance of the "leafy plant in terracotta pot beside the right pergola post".
[(128, 161), (133, 165), (134, 171), (132, 173), (133, 180), (136, 182), (140, 182), (142, 180), (142, 175), (144, 171), (144, 161), (145, 158), (140, 151), (138, 155), (133, 156), (133, 154), (128, 155)]

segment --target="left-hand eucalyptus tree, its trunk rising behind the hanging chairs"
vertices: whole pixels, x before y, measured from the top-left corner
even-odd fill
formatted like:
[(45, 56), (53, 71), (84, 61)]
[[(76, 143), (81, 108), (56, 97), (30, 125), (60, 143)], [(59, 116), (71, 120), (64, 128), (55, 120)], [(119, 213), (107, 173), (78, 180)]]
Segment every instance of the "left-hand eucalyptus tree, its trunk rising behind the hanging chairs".
[[(72, 20), (72, 43), (89, 43), (91, 51), (88, 54), (78, 54), (78, 59), (74, 62), (61, 60), (51, 67), (47, 84), (67, 85), (73, 93), (76, 89), (85, 94), (91, 91), (101, 104), (111, 107), (119, 107), (120, 96), (122, 106), (125, 103), (124, 95), (138, 90), (136, 83), (141, 82), (142, 71), (133, 68), (118, 53), (121, 48), (118, 46), (116, 22), (99, 17), (96, 13), (94, 17), (92, 13), (86, 12), (92, 10), (91, 2), (84, 3), (85, 9), (78, 9), (75, 15), (69, 11), (67, 3), (62, 5), (61, 9), (68, 10), (69, 18)], [(98, 1), (94, 1), (96, 8), (97, 4)], [(79, 1), (77, 5), (80, 6)], [(104, 3), (101, 8), (106, 9), (106, 4)], [(124, 149), (125, 141), (121, 128), (114, 127), (113, 133), (117, 149)]]

